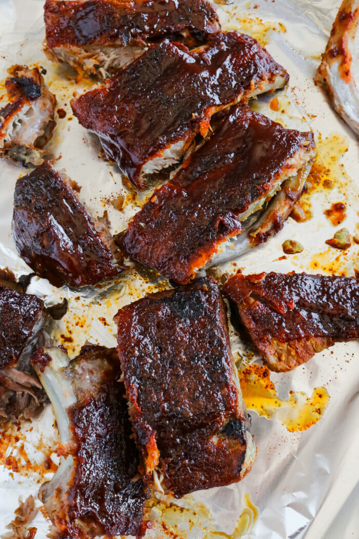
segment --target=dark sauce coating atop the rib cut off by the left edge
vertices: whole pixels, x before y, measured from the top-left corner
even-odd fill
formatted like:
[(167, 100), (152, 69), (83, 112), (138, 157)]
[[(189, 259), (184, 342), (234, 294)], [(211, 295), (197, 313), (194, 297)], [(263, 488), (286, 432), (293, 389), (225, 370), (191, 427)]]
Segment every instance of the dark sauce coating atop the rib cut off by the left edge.
[(43, 308), (37, 296), (0, 285), (0, 369), (15, 367)]

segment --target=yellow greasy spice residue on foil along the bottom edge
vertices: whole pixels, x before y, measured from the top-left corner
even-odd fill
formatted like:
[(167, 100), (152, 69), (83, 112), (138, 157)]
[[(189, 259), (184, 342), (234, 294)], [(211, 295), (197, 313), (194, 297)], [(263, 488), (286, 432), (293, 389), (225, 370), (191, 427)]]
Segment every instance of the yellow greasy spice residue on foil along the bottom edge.
[[(156, 524), (159, 523), (161, 531), (171, 539), (240, 539), (250, 534), (259, 515), (249, 494), (242, 496), (243, 510), (235, 524), (233, 533), (227, 534), (219, 531), (213, 525), (213, 516), (202, 503), (194, 502), (192, 496), (184, 496), (182, 502), (190, 507), (179, 507), (174, 503), (166, 505), (164, 502), (150, 502), (149, 516), (155, 523), (153, 529), (156, 537)], [(151, 532), (149, 536), (152, 537)]]

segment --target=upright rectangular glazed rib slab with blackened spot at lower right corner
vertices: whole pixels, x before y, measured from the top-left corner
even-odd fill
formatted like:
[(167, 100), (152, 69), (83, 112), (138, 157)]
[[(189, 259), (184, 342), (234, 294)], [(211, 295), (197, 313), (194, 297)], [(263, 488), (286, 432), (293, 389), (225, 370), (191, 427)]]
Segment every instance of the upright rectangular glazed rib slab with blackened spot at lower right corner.
[(144, 480), (180, 497), (242, 479), (256, 449), (216, 282), (149, 295), (115, 321)]

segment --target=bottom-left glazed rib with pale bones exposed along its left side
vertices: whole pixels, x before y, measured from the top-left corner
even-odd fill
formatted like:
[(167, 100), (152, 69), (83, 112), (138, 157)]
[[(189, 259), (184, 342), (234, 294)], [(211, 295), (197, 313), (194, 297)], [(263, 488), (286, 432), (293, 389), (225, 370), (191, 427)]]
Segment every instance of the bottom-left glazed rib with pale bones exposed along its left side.
[(116, 349), (82, 347), (70, 361), (63, 348), (32, 359), (50, 398), (60, 432), (60, 466), (40, 488), (52, 536), (142, 537), (145, 489), (131, 423), (119, 382)]

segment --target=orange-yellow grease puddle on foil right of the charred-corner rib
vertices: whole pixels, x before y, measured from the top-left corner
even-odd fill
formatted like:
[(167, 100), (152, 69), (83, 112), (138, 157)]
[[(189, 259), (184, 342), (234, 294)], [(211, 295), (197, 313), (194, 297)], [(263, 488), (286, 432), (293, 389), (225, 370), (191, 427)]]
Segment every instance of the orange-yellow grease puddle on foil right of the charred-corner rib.
[(238, 374), (247, 409), (258, 416), (280, 421), (290, 432), (304, 431), (315, 425), (329, 402), (328, 391), (323, 387), (314, 388), (311, 397), (302, 391), (290, 391), (287, 399), (280, 399), (268, 367), (253, 363)]

